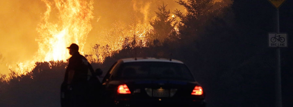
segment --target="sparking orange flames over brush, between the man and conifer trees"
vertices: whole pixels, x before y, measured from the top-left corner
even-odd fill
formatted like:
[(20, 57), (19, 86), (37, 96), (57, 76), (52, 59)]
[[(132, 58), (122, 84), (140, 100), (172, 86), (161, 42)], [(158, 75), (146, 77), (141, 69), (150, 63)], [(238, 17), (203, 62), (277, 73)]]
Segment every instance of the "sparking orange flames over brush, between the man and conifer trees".
[[(110, 47), (110, 53), (115, 53), (119, 52), (122, 50), (123, 45), (125, 45), (125, 42), (127, 44), (132, 44), (135, 40), (134, 46), (131, 46), (130, 48), (134, 47), (148, 47), (149, 40), (151, 37), (147, 35), (151, 31), (152, 27), (150, 24), (144, 23), (144, 24), (132, 24), (129, 26), (124, 26), (123, 23), (116, 23), (113, 24), (113, 27), (111, 29), (103, 29), (103, 32), (100, 33), (101, 39), (106, 40), (107, 45)], [(103, 36), (107, 35), (107, 36)], [(128, 38), (128, 41), (125, 41), (125, 38)], [(101, 41), (98, 41), (98, 44)], [(103, 41), (102, 41), (103, 42)], [(105, 46), (105, 44), (101, 44), (100, 47)], [(102, 52), (105, 50), (98, 49), (98, 52)], [(93, 54), (93, 51), (91, 51)], [(111, 54), (110, 54), (111, 55)], [(104, 56), (99, 54), (99, 58), (94, 55), (92, 58), (98, 61), (98, 63), (103, 63), (105, 57), (109, 56)]]

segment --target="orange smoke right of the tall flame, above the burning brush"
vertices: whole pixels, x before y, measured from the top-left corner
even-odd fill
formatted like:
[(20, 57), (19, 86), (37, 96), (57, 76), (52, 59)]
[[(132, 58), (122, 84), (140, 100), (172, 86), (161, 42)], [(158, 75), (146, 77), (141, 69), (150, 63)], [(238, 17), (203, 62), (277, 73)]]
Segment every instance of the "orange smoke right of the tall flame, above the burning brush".
[(167, 5), (171, 14), (178, 9), (184, 12), (184, 7), (175, 1), (178, 0), (102, 0), (94, 3), (93, 29), (89, 33), (85, 49), (90, 50), (90, 43), (106, 45), (108, 35), (101, 32), (105, 29), (133, 24), (148, 24), (156, 17), (155, 11), (159, 5)]

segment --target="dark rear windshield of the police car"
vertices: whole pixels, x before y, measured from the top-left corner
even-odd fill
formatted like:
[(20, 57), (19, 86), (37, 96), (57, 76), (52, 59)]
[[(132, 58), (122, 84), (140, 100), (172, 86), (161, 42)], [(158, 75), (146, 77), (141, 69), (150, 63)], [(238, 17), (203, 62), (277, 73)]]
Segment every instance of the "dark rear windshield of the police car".
[(112, 79), (172, 79), (195, 81), (185, 64), (168, 62), (123, 63)]

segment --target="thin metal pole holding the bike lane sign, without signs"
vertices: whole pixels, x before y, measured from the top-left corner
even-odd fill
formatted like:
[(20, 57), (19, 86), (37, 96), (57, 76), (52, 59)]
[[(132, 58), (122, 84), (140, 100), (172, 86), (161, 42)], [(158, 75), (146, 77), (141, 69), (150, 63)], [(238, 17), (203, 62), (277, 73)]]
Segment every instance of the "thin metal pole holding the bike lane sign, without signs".
[[(280, 33), (279, 9), (277, 9), (277, 33)], [(282, 85), (281, 85), (281, 54), (280, 48), (276, 49), (276, 107), (282, 107)]]

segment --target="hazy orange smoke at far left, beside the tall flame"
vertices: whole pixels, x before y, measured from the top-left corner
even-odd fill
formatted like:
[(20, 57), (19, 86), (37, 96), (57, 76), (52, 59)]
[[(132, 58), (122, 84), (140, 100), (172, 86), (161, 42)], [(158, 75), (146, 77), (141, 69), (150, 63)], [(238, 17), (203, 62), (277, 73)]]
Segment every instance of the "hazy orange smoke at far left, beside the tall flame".
[(0, 73), (8, 74), (9, 66), (30, 60), (38, 50), (36, 27), (44, 10), (41, 1), (0, 1), (0, 53), (5, 59)]

